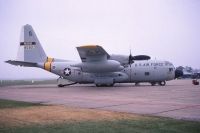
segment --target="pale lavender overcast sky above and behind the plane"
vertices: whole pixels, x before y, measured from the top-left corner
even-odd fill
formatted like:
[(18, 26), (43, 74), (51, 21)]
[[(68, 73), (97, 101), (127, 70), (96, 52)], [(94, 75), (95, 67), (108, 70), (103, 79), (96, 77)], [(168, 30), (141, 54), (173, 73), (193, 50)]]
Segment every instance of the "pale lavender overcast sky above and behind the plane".
[(4, 63), (25, 24), (50, 57), (80, 61), (75, 47), (96, 44), (200, 68), (200, 0), (0, 0), (0, 79), (57, 77)]

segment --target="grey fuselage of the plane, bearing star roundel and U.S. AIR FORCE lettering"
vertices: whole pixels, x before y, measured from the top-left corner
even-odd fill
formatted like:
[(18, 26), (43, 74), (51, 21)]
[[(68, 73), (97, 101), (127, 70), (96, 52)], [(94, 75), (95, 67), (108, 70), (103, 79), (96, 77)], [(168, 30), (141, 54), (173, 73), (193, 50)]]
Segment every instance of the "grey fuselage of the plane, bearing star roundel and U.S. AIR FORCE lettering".
[[(139, 83), (172, 80), (175, 68), (168, 61), (145, 60), (124, 65), (121, 71), (88, 73), (80, 67), (73, 67), (77, 62), (52, 62), (51, 72), (64, 79), (77, 83)], [(67, 71), (67, 73), (66, 73)]]

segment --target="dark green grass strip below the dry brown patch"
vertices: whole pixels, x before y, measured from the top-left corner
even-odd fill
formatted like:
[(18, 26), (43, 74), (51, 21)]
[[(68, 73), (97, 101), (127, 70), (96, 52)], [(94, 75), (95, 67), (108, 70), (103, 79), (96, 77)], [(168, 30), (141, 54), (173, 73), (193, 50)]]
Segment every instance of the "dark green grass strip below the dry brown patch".
[(22, 127), (5, 127), (0, 132), (13, 133), (199, 133), (198, 122), (176, 121), (169, 119), (153, 120), (118, 120), (118, 121), (84, 121), (53, 125), (31, 125)]

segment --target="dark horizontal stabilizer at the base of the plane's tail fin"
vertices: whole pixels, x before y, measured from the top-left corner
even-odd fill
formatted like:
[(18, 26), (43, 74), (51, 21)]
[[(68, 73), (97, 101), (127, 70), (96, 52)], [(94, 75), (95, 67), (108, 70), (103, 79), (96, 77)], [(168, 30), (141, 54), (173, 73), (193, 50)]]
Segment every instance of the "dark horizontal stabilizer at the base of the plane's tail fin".
[(30, 63), (30, 62), (24, 62), (24, 61), (8, 60), (5, 62), (9, 63), (11, 65), (16, 65), (16, 66), (26, 66), (26, 67), (36, 67), (37, 66), (37, 63)]

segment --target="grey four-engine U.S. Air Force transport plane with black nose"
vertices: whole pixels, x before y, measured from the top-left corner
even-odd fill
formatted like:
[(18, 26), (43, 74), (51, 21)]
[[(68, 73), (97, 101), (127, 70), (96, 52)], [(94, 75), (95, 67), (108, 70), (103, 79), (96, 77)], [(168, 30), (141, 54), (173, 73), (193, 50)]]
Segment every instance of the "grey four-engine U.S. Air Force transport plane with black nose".
[[(110, 55), (101, 46), (77, 47), (82, 62), (72, 62), (48, 57), (32, 26), (21, 30), (16, 60), (6, 63), (25, 67), (39, 67), (59, 75), (58, 86), (75, 83), (94, 83), (96, 86), (113, 86), (115, 83), (149, 82), (164, 86), (166, 81), (182, 75), (168, 61), (150, 60), (147, 55)], [(63, 80), (71, 81), (63, 84)]]

